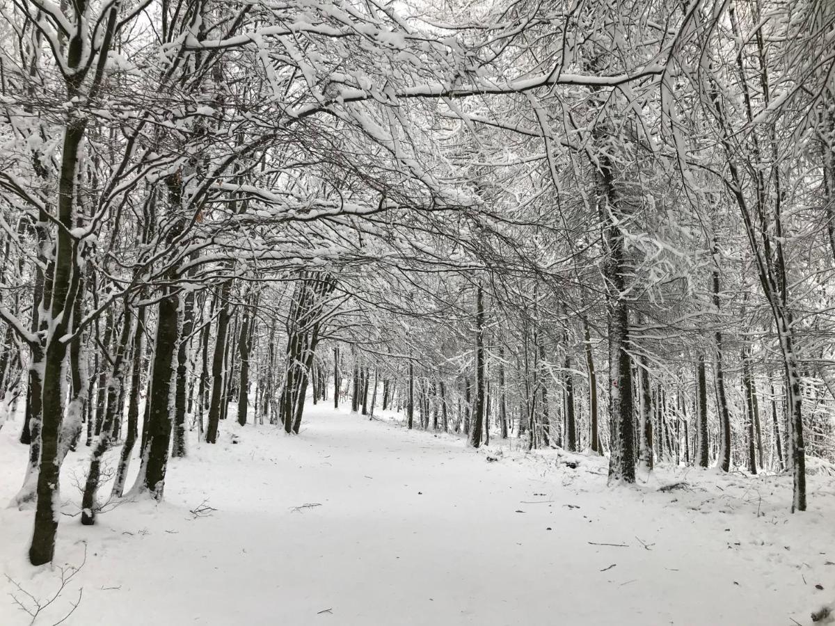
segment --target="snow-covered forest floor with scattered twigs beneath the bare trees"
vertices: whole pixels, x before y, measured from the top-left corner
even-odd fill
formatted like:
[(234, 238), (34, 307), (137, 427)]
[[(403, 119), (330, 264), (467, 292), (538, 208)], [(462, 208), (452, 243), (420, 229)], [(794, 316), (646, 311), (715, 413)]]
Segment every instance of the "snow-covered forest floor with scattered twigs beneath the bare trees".
[[(63, 624), (806, 626), (835, 599), (831, 477), (810, 477), (792, 515), (790, 477), (667, 467), (606, 487), (599, 457), (476, 451), (399, 417), (308, 406), (299, 437), (225, 423), (170, 462), (164, 502), (94, 527), (69, 517), (85, 456), (71, 454), (55, 563), (83, 566), (36, 626), (79, 593)], [(19, 427), (0, 431), (3, 503), (25, 467)], [(61, 585), (26, 561), (31, 524), (0, 507), (2, 626), (31, 622), (15, 597)]]

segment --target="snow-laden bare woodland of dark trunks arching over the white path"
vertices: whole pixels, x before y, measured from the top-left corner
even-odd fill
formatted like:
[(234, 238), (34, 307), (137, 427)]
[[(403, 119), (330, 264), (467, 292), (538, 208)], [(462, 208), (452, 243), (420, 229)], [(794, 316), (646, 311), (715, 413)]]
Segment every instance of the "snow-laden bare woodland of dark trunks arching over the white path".
[(314, 404), (832, 492), (831, 0), (6, 0), (0, 42), (19, 561)]

